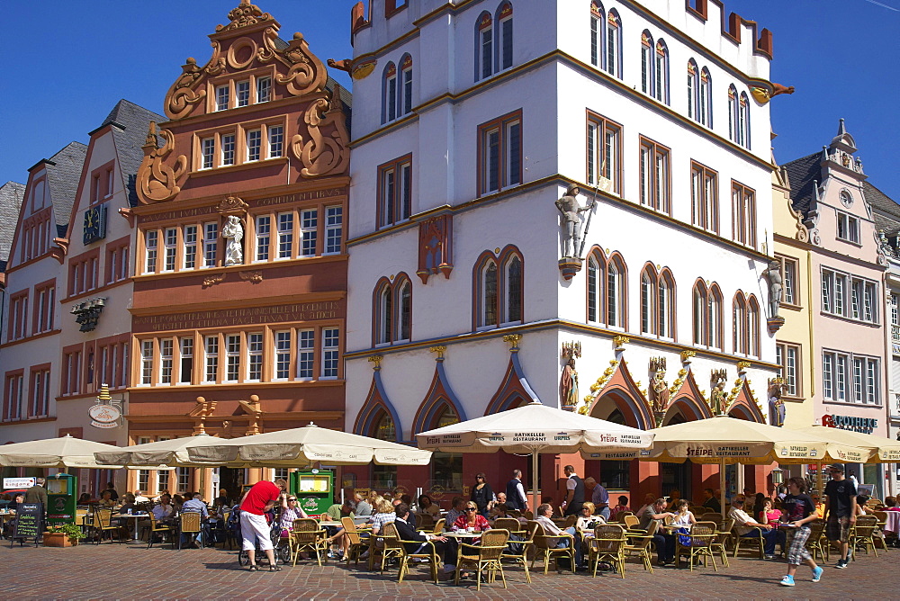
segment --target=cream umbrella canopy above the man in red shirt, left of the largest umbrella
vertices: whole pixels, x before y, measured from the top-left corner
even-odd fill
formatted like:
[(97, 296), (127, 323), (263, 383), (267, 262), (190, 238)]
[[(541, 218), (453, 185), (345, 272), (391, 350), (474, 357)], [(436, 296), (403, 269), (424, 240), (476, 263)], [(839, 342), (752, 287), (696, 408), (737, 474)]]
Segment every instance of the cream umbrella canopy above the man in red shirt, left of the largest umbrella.
[(192, 462), (227, 467), (327, 465), (428, 465), (431, 453), (405, 444), (322, 428), (315, 424), (188, 446)]

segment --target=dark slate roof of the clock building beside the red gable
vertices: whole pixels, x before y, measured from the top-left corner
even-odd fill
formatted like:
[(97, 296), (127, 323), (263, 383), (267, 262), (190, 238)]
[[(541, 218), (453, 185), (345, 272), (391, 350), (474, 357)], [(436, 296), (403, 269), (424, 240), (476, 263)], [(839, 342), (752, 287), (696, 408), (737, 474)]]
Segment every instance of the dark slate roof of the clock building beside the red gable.
[(122, 184), (128, 191), (128, 202), (132, 207), (139, 204), (135, 181), (140, 162), (144, 159), (144, 150), (141, 147), (147, 139), (150, 121), (159, 123), (167, 120), (166, 117), (139, 104), (122, 99), (112, 107), (112, 111), (97, 128), (112, 125), (112, 139), (119, 159)]

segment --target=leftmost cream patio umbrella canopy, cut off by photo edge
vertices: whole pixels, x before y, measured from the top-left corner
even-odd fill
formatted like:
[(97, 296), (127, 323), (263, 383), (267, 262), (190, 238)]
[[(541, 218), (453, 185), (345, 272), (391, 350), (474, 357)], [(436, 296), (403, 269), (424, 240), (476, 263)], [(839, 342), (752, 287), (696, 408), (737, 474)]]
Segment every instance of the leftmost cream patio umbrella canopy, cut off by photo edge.
[(112, 444), (71, 435), (0, 446), (0, 465), (17, 468), (93, 468), (118, 470), (121, 464), (99, 464), (94, 453), (118, 451)]

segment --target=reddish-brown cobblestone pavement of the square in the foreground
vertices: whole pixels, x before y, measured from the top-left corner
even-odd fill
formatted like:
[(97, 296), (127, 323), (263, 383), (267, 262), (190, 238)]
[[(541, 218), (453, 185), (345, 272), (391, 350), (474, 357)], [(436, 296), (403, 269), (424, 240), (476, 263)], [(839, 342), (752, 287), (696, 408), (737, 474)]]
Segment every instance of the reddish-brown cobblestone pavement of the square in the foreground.
[[(895, 574), (900, 551), (860, 556), (847, 570), (834, 569), (834, 556), (825, 567), (821, 582), (810, 582), (810, 570), (801, 566), (797, 586), (779, 586), (785, 574), (783, 561), (739, 558), (730, 568), (719, 566), (689, 570), (656, 569), (653, 575), (629, 561), (626, 579), (610, 573), (590, 576), (562, 575), (543, 570), (528, 585), (520, 568), (507, 570), (509, 589), (500, 581), (482, 585), (482, 597), (522, 599), (888, 599), (900, 598)], [(538, 564), (539, 566), (540, 564)], [(536, 566), (536, 568), (538, 567)], [(365, 563), (318, 567), (315, 561), (280, 572), (249, 572), (238, 568), (237, 552), (219, 549), (166, 547), (146, 549), (144, 545), (103, 543), (56, 549), (44, 547), (10, 548), (0, 542), (0, 591), (5, 598), (316, 598), (393, 599), (475, 597), (472, 580), (453, 585), (428, 580), (428, 570), (413, 570), (410, 579), (397, 583), (397, 572), (381, 576), (365, 570)]]

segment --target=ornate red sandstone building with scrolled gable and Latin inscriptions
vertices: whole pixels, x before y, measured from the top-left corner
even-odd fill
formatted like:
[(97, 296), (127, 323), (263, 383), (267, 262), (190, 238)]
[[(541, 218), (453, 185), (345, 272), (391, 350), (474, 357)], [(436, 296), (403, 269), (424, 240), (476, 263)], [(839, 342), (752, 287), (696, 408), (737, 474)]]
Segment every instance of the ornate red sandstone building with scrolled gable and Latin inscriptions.
[[(151, 124), (131, 306), (130, 442), (344, 426), (349, 94), (242, 0)], [(227, 471), (220, 486), (271, 477)], [(130, 489), (198, 489), (190, 469)], [(215, 479), (207, 480), (214, 481)]]

